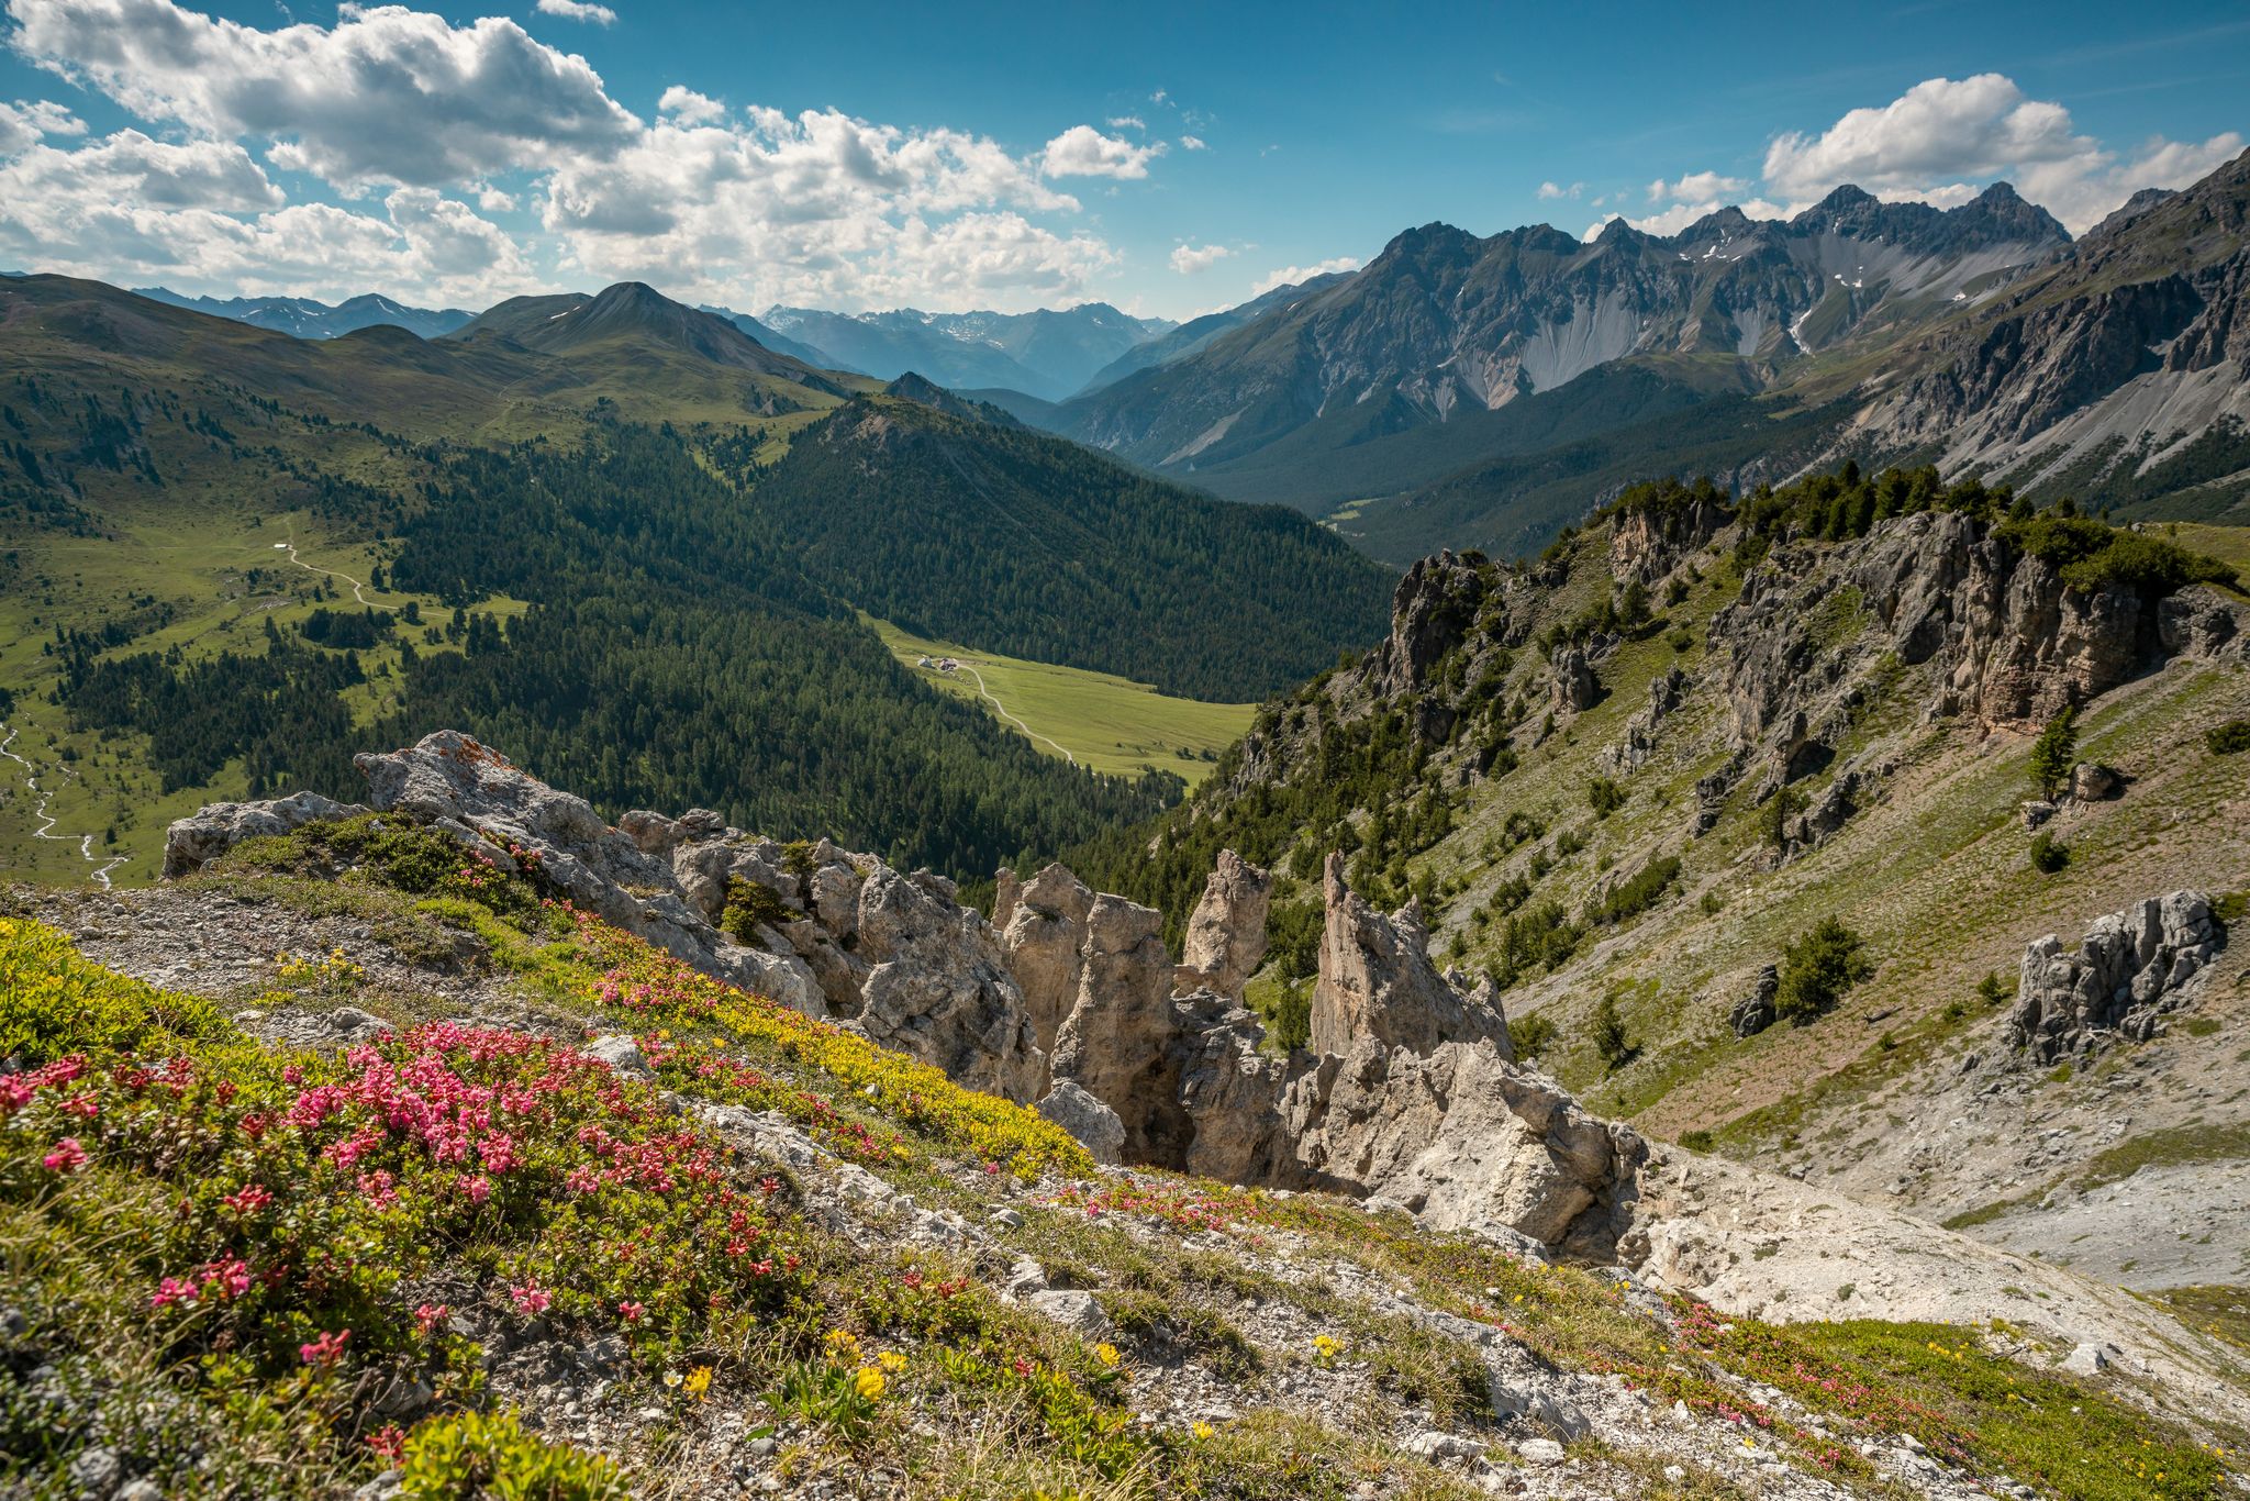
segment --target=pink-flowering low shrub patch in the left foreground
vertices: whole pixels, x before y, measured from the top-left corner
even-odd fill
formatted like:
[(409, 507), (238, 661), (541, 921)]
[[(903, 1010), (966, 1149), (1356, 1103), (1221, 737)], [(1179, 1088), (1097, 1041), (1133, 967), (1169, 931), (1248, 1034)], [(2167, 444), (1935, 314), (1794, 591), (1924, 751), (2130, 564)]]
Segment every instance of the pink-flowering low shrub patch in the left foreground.
[[(441, 1397), (482, 1377), (450, 1310), (407, 1296), (432, 1271), (650, 1361), (727, 1348), (806, 1292), (783, 1186), (572, 1046), (434, 1022), (281, 1055), (34, 923), (0, 920), (0, 974), (56, 1006), (0, 1076), (0, 1202), (112, 1247), (178, 1355), (223, 1352), (214, 1370), (310, 1404), (353, 1451), (360, 1366), (423, 1368)], [(58, 1017), (97, 992), (70, 1035)]]

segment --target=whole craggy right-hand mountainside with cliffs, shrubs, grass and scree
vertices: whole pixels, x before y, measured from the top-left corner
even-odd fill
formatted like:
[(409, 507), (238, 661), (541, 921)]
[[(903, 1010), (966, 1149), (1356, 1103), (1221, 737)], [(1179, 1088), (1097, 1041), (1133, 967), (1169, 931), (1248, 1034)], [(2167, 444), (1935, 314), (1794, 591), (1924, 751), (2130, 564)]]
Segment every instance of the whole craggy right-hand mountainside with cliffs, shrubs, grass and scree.
[[(2009, 1028), (2043, 934), (2077, 954), (2178, 889), (2241, 920), (2246, 563), (2232, 529), (2113, 531), (1928, 470), (1739, 509), (1640, 486), (1539, 563), (1418, 565), (1390, 641), (1073, 869), (1179, 925), (1222, 846), (1271, 862), (1251, 997), (1287, 1033), (1343, 851), (1606, 1112), (2104, 1276), (2239, 1283), (2250, 1226), (2174, 1240), (2169, 1215), (2239, 1202), (2250, 1170), (2239, 1132), (2200, 1130), (2250, 1087), (2243, 945), (2185, 1019), (2063, 1053), (2077, 1078)], [(1832, 918), (1847, 938), (1816, 941)], [(1825, 990), (1789, 988), (1807, 965)], [(2084, 1202), (2142, 1166), (2138, 1199)]]

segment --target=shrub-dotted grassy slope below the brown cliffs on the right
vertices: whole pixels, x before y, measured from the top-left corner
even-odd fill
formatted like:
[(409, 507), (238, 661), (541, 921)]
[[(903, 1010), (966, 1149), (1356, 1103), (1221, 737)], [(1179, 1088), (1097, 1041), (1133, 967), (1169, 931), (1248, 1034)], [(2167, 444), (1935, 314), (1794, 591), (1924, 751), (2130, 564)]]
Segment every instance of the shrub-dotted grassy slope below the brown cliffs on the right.
[[(1555, 614), (1609, 587), (1606, 531), (1582, 540), (1573, 556), (1573, 581)], [(2072, 815), (2066, 837), (2077, 857), (2059, 875), (2030, 869), (2016, 817), (2030, 788), (2030, 736), (1978, 738), (1948, 722), (1922, 729), (1930, 684), (1917, 673), (1892, 686), (1838, 754), (1843, 765), (1879, 736), (1899, 745), (1901, 770), (1883, 801), (1780, 871), (1762, 869), (1760, 810), (1746, 790), (1732, 794), (1710, 835), (1685, 839), (1694, 781), (1721, 761), (1724, 707), (1712, 695), (1692, 698), (1665, 720), (1660, 754), (1627, 779), (1627, 806), (1595, 819), (1586, 783), (1604, 770), (1602, 749), (1647, 702), (1652, 677), (1672, 662), (1696, 668), (1710, 614), (1739, 587), (1717, 554), (1701, 563), (1706, 583), (1665, 612), (1696, 644), (1674, 653), (1656, 632), (1622, 646), (1600, 673), (1606, 698), (1526, 754), (1516, 772), (1480, 783), (1456, 833), (1415, 862), (1458, 889), (1436, 945), (1476, 965), (1490, 959), (1498, 925), (1478, 927), (1469, 911), (1539, 844), (1498, 855), (1496, 833), (1512, 810), (1541, 817), (1548, 842), (1555, 830), (1586, 835), (1586, 848), (1559, 860), (1534, 893), (1568, 911), (1649, 855), (1683, 857), (1681, 887), (1654, 911), (1508, 995), (1512, 1015), (1541, 1010), (1562, 1026), (1564, 1042), (1546, 1062), (1598, 1109), (1665, 1136), (1739, 1121), (1744, 1150), (1771, 1145), (1829, 1105), (1850, 1105), (1886, 1078), (1948, 1058), (1984, 1017), (1948, 1017), (1946, 1008), (1969, 997), (1987, 970), (2012, 977), (2030, 938), (2077, 932), (2095, 914), (2178, 884), (2250, 887), (2250, 848), (2239, 837), (2250, 821), (2250, 756), (2214, 758), (2200, 740), (2212, 722), (2250, 716), (2250, 675), (2189, 662), (2104, 695), (2084, 716), (2081, 756), (2124, 770), (2131, 790)], [(1861, 626), (1840, 610), (1836, 635)], [(1832, 774), (1800, 785), (1818, 797)], [(1706, 893), (1717, 911), (1703, 909)], [(1874, 979), (1818, 1026), (1737, 1040), (1724, 1024), (1726, 1008), (1760, 965), (1829, 914), (1868, 936)], [(1613, 1076), (1588, 1040), (1591, 1010), (1609, 992), (1620, 997), (1640, 1046), (1638, 1060)], [(1881, 1010), (1892, 1013), (1881, 1026), (1863, 1022)], [(1886, 1033), (1894, 1046), (1883, 1046)]]

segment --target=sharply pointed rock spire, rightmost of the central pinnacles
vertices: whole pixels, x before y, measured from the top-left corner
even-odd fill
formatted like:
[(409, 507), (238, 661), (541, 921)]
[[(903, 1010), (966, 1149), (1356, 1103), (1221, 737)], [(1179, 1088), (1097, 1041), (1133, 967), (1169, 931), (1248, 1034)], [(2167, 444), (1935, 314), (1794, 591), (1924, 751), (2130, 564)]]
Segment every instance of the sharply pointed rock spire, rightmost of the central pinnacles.
[(1328, 927), (1312, 990), (1312, 1051), (1350, 1053), (1361, 1040), (1433, 1053), (1444, 1042), (1490, 1040), (1514, 1058), (1496, 997), (1472, 999), (1429, 961), (1429, 934), (1408, 907), (1384, 916), (1343, 884), (1343, 855), (1323, 871)]

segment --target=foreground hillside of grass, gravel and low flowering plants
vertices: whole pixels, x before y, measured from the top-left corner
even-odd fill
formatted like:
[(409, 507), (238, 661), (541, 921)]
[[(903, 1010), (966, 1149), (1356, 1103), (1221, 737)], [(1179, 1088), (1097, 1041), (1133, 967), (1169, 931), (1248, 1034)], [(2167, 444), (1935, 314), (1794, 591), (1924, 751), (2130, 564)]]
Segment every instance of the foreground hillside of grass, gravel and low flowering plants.
[[(637, 1082), (619, 1082), (598, 1098), (592, 1089), (538, 1091), (511, 1105), (508, 1127), (529, 1166), (502, 1184), (506, 1215), (464, 1213), (459, 1195), (443, 1188), (452, 1168), (425, 1161), (410, 1136), (400, 1141), (396, 1121), (389, 1134), (378, 1125), (378, 1157), (369, 1161), (398, 1170), (405, 1202), (396, 1213), (369, 1213), (349, 1175), (313, 1168), (324, 1143), (360, 1130), (362, 1118), (272, 1130), (254, 1141), (234, 1136), (245, 1105), (288, 1107), (295, 1080), (281, 1078), (281, 1062), (295, 1062), (304, 1085), (351, 1078), (360, 1062), (344, 1067), (333, 1055), (245, 1044), (220, 1019), (223, 1010), (104, 979), (52, 932), (0, 920), (0, 974), (9, 979), (0, 986), (0, 1031), (32, 1064), (68, 1051), (94, 1053), (94, 1069), (76, 1089), (99, 1096), (106, 1127), (99, 1139), (81, 1132), (92, 1161), (56, 1186), (56, 1172), (43, 1170), (38, 1157), (74, 1121), (61, 1109), (68, 1091), (36, 1094), (29, 1109), (0, 1121), (0, 1242), (11, 1251), (29, 1312), (0, 1337), (0, 1348), (25, 1368), (54, 1366), (56, 1379), (72, 1388), (99, 1377), (112, 1404), (162, 1409), (162, 1431), (140, 1433), (130, 1447), (137, 1474), (180, 1478), (191, 1456), (207, 1451), (220, 1474), (236, 1467), (256, 1474), (261, 1490), (349, 1492), (385, 1465), (356, 1438), (382, 1422), (367, 1404), (367, 1393), (382, 1384), (358, 1377), (398, 1361), (430, 1373), (441, 1411), (522, 1402), (526, 1427), (547, 1429), (547, 1442), (556, 1442), (554, 1429), (567, 1429), (569, 1415), (556, 1411), (554, 1386), (538, 1393), (529, 1386), (551, 1379), (551, 1370), (538, 1368), (526, 1379), (515, 1366), (484, 1359), (477, 1339), (497, 1348), (493, 1334), (421, 1341), (412, 1332), (416, 1298), (439, 1296), (477, 1319), (472, 1328), (536, 1343), (547, 1334), (522, 1332), (524, 1319), (508, 1307), (506, 1292), (529, 1283), (554, 1296), (547, 1323), (562, 1337), (623, 1337), (612, 1404), (650, 1406), (657, 1418), (612, 1429), (623, 1436), (616, 1458), (626, 1478), (657, 1494), (718, 1483), (718, 1467), (740, 1438), (727, 1422), (731, 1413), (778, 1391), (792, 1370), (806, 1379), (808, 1368), (812, 1377), (839, 1368), (832, 1350), (824, 1352), (837, 1339), (824, 1341), (824, 1330), (844, 1330), (850, 1355), (842, 1361), (844, 1379), (855, 1359), (873, 1361), (875, 1350), (900, 1359), (880, 1400), (857, 1411), (857, 1427), (837, 1418), (832, 1404), (783, 1402), (781, 1447), (754, 1463), (794, 1483), (873, 1485), (882, 1494), (1040, 1490), (1341, 1501), (1368, 1478), (1413, 1496), (1476, 1494), (1451, 1474), (1402, 1456), (1386, 1436), (1424, 1424), (1503, 1438), (1521, 1438), (1523, 1429), (1492, 1427), (1474, 1348), (1404, 1316), (1402, 1294), (1456, 1321), (1496, 1325), (1546, 1370), (1622, 1377), (1647, 1391), (1652, 1409), (1681, 1402), (1696, 1413), (1690, 1427), (1737, 1424), (1739, 1440), (1737, 1427), (1719, 1429), (1724, 1447), (1768, 1449), (1847, 1494), (1897, 1494), (1856, 1442), (1901, 1433), (1971, 1474), (2005, 1472), (2045, 1496), (2218, 1496), (2230, 1485), (2225, 1454), (2234, 1436), (2214, 1442), (2149, 1418), (2108, 1384), (2050, 1370), (2054, 1350), (1998, 1323), (1989, 1330), (1876, 1321), (1771, 1328), (1753, 1319), (1721, 1325), (1688, 1305), (1674, 1305), (1674, 1323), (1638, 1312), (1613, 1285), (1582, 1271), (1528, 1267), (1469, 1240), (1420, 1233), (1400, 1213), (1368, 1215), (1323, 1195), (1235, 1193), (1163, 1172), (1066, 1181), (1089, 1177), (1082, 1157), (1030, 1112), (972, 1096), (860, 1037), (727, 992), (612, 929), (574, 927), (542, 911), (520, 878), (454, 884), (443, 875), (436, 891), (425, 884), (400, 891), (385, 880), (430, 862), (412, 835), (385, 833), (364, 844), (369, 837), (358, 835), (362, 844), (351, 851), (364, 864), (342, 882), (328, 875), (331, 835), (306, 830), (236, 853), (200, 887), (268, 905), (277, 923), (349, 911), (396, 952), (475, 954), (477, 972), (513, 974), (533, 1024), (560, 1035), (578, 1035), (587, 1013), (603, 1004), (605, 972), (646, 979), (648, 1008), (612, 1024), (641, 1035), (644, 1051), (659, 1060), (662, 1085), (788, 1112), (824, 1148), (920, 1204), (990, 1224), (997, 1260), (902, 1242), (848, 1244), (832, 1213), (808, 1206), (835, 1168), (828, 1161), (772, 1168), (756, 1222), (772, 1229), (772, 1249), (801, 1253), (801, 1267), (792, 1260), (792, 1276), (765, 1292), (752, 1283), (729, 1287), (760, 1298), (760, 1316), (722, 1312), (729, 1298), (706, 1303), (702, 1292), (740, 1278), (740, 1267), (718, 1256), (722, 1233), (698, 1233), (693, 1188), (583, 1195), (560, 1188), (565, 1168), (603, 1166), (585, 1150), (587, 1134), (574, 1132), (585, 1116), (634, 1139), (650, 1132), (650, 1121), (664, 1132), (686, 1132), (675, 1150), (706, 1141), (693, 1116), (652, 1109), (650, 1089)], [(450, 871), (454, 860), (446, 844), (432, 869)], [(259, 997), (268, 1008), (322, 1010), (349, 999), (400, 1024), (446, 1010), (430, 997), (367, 986), (342, 961), (277, 979), (281, 988)], [(146, 1031), (151, 1017), (166, 1017), (155, 1033)], [(200, 1073), (227, 1080), (230, 1094), (140, 1094), (117, 1085), (108, 1051), (135, 1046), (194, 1055), (202, 1060)], [(459, 1049), (414, 1037), (387, 1040), (380, 1051), (421, 1053), (464, 1073), (511, 1069), (506, 1051), (470, 1064)], [(734, 1071), (742, 1064), (754, 1073)], [(533, 1067), (524, 1078), (538, 1076)], [(236, 1085), (241, 1098), (232, 1096)], [(416, 1087), (434, 1085), (421, 1073)], [(673, 1118), (677, 1127), (668, 1125)], [(594, 1132), (596, 1143), (603, 1134)], [(216, 1177), (200, 1159), (182, 1161), (166, 1145), (189, 1139), (230, 1143), (223, 1154), (214, 1148)], [(734, 1161), (720, 1143), (709, 1145), (718, 1148), (718, 1177), (704, 1177), (706, 1186), (749, 1193), (767, 1172), (756, 1161)], [(1044, 1175), (1044, 1181), (1024, 1193), (1015, 1175), (979, 1163), (1012, 1163), (1022, 1177)], [(277, 1193), (274, 1213), (286, 1215), (272, 1231), (218, 1202), (223, 1190), (261, 1179)], [(1015, 1211), (1012, 1222), (990, 1217), (999, 1204)], [(79, 1233), (88, 1217), (112, 1233)], [(218, 1303), (191, 1319), (148, 1312), (146, 1287), (155, 1276), (198, 1258), (241, 1251), (259, 1267), (286, 1269), (290, 1258), (317, 1256), (317, 1244), (295, 1244), (286, 1233), (302, 1217), (378, 1253), (331, 1265), (322, 1278), (281, 1276), (241, 1307)], [(558, 1233), (526, 1238), (526, 1226), (549, 1220)], [(623, 1238), (646, 1249), (664, 1276), (621, 1283), (612, 1242)], [(1118, 1348), (1080, 1343), (994, 1296), (986, 1278), (1012, 1256), (1033, 1256), (1051, 1276), (1094, 1287), (1118, 1328)], [(637, 1323), (612, 1312), (628, 1294), (648, 1305)], [(335, 1379), (299, 1373), (297, 1341), (335, 1328), (346, 1310), (356, 1328)], [(184, 1359), (220, 1330), (241, 1361)], [(1336, 1341), (1334, 1355), (1314, 1348), (1316, 1332)], [(482, 1368), (493, 1375), (479, 1377)], [(709, 1382), (709, 1402), (700, 1388), (680, 1388), (691, 1368), (700, 1370), (698, 1382)], [(1188, 1429), (1177, 1411), (1145, 1424), (1132, 1420), (1134, 1409), (1170, 1406), (1170, 1393), (1184, 1388), (1222, 1393), (1226, 1413), (1213, 1413), (1217, 1420), (1199, 1429)], [(1336, 1391), (1352, 1404), (1350, 1431), (1318, 1415), (1334, 1406), (1328, 1393)], [(34, 1485), (58, 1478), (90, 1442), (86, 1413), (99, 1400), (88, 1397), (65, 1422), (40, 1422), (20, 1406), (0, 1415), (9, 1424), (0, 1478)], [(418, 1483), (432, 1481), (430, 1447), (448, 1431), (446, 1422), (443, 1415), (421, 1427), (410, 1420), (407, 1467), (410, 1476), (421, 1472)], [(1505, 1449), (1494, 1454), (1505, 1460)], [(1688, 1476), (1660, 1481), (1656, 1469), (1674, 1458), (1685, 1460)], [(536, 1445), (515, 1451), (515, 1463), (540, 1460)], [(551, 1454), (544, 1463), (576, 1465)], [(1640, 1451), (1575, 1445), (1575, 1463), (1584, 1483), (1604, 1494), (1746, 1494), (1708, 1469), (1683, 1438), (1656, 1438)], [(1739, 1467), (1744, 1458), (1737, 1454), (1732, 1463)]]

